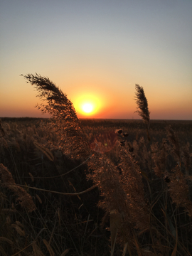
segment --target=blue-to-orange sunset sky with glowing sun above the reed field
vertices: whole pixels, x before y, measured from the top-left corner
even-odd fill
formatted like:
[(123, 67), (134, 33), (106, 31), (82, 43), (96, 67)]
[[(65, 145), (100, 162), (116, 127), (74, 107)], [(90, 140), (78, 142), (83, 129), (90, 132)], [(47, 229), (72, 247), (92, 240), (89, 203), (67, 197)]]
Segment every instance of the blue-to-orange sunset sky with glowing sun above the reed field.
[(21, 76), (38, 73), (79, 118), (140, 118), (139, 84), (151, 119), (192, 119), (191, 13), (191, 0), (1, 0), (0, 117), (48, 117)]

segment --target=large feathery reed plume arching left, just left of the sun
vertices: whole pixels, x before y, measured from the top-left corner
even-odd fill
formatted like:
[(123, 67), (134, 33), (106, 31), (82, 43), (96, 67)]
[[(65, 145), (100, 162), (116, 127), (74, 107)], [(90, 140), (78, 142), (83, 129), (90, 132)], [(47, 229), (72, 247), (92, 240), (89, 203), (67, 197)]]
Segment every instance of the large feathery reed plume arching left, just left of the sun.
[(56, 147), (76, 158), (87, 157), (89, 144), (77, 117), (73, 103), (62, 90), (49, 78), (41, 75), (27, 74), (23, 76), (38, 91), (37, 97), (47, 102), (47, 105), (37, 105), (43, 113), (48, 112), (53, 117), (50, 128), (58, 134)]

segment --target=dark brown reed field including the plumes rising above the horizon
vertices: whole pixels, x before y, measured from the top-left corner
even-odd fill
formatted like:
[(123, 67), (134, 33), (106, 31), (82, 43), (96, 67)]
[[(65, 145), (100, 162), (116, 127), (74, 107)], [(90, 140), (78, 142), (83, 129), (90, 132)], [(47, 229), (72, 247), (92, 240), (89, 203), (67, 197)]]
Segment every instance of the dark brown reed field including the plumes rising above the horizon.
[(150, 120), (139, 85), (142, 119), (78, 119), (23, 77), (51, 118), (1, 118), (0, 255), (192, 255), (192, 121)]

